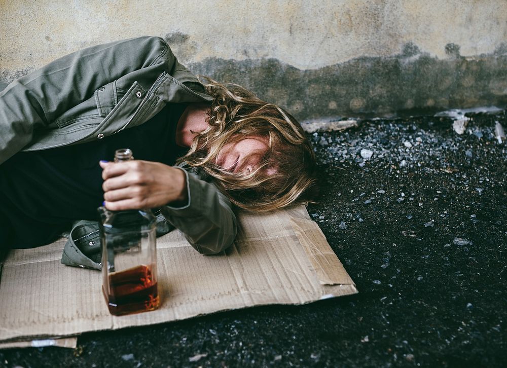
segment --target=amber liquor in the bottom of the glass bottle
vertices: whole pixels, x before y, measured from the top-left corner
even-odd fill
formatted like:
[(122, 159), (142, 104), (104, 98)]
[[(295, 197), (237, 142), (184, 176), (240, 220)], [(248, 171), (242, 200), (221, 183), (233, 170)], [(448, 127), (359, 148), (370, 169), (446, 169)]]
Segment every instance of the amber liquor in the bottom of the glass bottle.
[(107, 307), (111, 314), (125, 314), (152, 311), (159, 307), (160, 297), (157, 282), (153, 282), (151, 267), (137, 266), (108, 277), (109, 293), (104, 291)]

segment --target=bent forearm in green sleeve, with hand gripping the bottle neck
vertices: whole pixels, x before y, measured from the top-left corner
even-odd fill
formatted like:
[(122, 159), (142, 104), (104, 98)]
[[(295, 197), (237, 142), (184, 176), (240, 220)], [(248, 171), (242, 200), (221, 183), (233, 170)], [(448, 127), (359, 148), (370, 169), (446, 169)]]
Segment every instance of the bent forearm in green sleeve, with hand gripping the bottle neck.
[(237, 228), (232, 204), (211, 183), (156, 162), (100, 165), (107, 209), (160, 207), (168, 222), (203, 254), (219, 253), (234, 242)]

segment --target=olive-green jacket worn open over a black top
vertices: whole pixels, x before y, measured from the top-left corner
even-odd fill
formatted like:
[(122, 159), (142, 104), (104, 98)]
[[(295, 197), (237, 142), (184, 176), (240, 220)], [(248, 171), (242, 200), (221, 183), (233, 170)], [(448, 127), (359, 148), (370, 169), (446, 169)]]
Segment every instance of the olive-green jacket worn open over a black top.
[[(154, 36), (83, 49), (2, 87), (0, 164), (19, 151), (103, 139), (143, 124), (166, 103), (211, 100), (167, 43)], [(220, 252), (236, 236), (230, 201), (194, 174), (187, 173), (187, 187), (189, 203), (162, 207), (161, 222), (182, 231), (199, 252)], [(66, 247), (62, 262), (91, 267), (86, 264), (88, 249), (83, 253), (76, 240), (84, 234), (72, 236), (81, 225), (71, 231), (70, 248)], [(83, 239), (89, 245), (97, 243)]]

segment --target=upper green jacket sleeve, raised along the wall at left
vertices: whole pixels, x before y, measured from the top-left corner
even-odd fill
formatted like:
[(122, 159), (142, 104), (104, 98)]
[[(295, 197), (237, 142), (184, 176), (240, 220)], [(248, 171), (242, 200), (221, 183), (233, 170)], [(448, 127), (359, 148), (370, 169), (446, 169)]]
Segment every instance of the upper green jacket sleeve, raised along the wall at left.
[(167, 43), (148, 36), (89, 47), (15, 80), (0, 90), (0, 164), (99, 87), (120, 79), (131, 85), (141, 70), (143, 81), (155, 80), (175, 63)]

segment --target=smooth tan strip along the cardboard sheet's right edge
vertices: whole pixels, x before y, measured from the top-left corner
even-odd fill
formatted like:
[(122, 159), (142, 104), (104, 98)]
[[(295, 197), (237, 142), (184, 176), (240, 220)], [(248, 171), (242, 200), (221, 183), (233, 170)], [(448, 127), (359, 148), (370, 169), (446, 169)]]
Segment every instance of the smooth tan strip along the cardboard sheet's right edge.
[[(320, 228), (310, 219), (292, 218), (292, 227), (312, 264), (321, 285), (349, 285), (336, 289), (339, 295), (356, 293), (357, 289), (342, 263), (331, 249)], [(338, 295), (337, 295), (338, 296)]]

